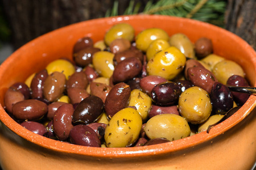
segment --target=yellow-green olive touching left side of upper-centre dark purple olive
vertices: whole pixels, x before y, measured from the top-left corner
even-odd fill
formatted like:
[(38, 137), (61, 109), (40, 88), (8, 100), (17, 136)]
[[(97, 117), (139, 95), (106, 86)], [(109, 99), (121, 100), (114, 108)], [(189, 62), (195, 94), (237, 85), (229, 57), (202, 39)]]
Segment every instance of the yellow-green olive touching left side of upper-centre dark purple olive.
[(93, 54), (94, 69), (105, 78), (110, 78), (114, 71), (113, 63), (114, 54), (110, 52), (100, 51)]

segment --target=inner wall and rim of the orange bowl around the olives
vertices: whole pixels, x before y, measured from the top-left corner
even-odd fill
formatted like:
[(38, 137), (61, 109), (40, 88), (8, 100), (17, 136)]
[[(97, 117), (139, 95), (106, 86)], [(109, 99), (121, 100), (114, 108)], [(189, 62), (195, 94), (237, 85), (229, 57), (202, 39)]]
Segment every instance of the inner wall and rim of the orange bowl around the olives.
[[(224, 29), (191, 19), (163, 15), (131, 15), (94, 19), (72, 24), (40, 36), (16, 50), (2, 63), (0, 66), (0, 101), (2, 105), (0, 107), (0, 119), (3, 124), (20, 137), (53, 150), (93, 156), (136, 156), (152, 154), (153, 152), (156, 154), (158, 152), (171, 152), (195, 146), (232, 128), (241, 122), (255, 107), (256, 97), (250, 96), (240, 111), (214, 127), (209, 134), (204, 132), (162, 145), (139, 148), (88, 148), (54, 141), (22, 128), (4, 111), (3, 97), (7, 88), (13, 83), (24, 82), (32, 73), (44, 69), (47, 63), (57, 58), (72, 59), (73, 45), (78, 39), (89, 36), (92, 37), (94, 42), (102, 40), (106, 31), (112, 25), (121, 22), (131, 24), (135, 29), (136, 35), (143, 29), (155, 27), (164, 29), (170, 36), (174, 33), (184, 33), (192, 42), (195, 42), (200, 37), (208, 37), (212, 39), (214, 53), (239, 63), (245, 70), (246, 78), (251, 86), (255, 86), (255, 51), (240, 37)], [(88, 152), (88, 150), (90, 151)]]

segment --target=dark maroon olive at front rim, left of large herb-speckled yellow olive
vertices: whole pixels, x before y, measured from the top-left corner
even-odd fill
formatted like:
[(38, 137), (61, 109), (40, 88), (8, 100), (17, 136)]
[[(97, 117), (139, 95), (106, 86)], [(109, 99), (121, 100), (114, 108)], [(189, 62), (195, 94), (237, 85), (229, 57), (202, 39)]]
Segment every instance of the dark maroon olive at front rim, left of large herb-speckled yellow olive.
[(74, 126), (69, 134), (70, 142), (76, 145), (101, 147), (97, 133), (86, 125)]

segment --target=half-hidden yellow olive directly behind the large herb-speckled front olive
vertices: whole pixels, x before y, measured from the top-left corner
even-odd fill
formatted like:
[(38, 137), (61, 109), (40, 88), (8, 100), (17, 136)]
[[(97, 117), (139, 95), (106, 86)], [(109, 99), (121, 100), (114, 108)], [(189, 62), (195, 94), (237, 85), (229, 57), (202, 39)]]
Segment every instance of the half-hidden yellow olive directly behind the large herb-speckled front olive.
[(146, 121), (148, 118), (148, 109), (152, 104), (150, 96), (144, 92), (134, 89), (131, 91), (129, 106), (135, 106), (139, 114), (141, 114), (142, 121)]

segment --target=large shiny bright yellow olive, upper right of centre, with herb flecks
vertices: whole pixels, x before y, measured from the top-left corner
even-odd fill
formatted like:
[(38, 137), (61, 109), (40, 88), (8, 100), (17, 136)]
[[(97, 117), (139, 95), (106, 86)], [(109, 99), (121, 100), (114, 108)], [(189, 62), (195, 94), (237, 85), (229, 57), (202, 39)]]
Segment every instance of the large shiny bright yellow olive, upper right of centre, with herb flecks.
[(185, 62), (184, 54), (176, 47), (170, 46), (156, 53), (154, 59), (148, 61), (147, 73), (148, 75), (158, 75), (172, 80), (183, 70)]

